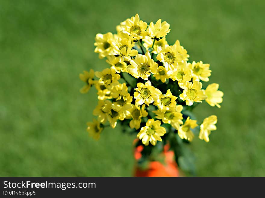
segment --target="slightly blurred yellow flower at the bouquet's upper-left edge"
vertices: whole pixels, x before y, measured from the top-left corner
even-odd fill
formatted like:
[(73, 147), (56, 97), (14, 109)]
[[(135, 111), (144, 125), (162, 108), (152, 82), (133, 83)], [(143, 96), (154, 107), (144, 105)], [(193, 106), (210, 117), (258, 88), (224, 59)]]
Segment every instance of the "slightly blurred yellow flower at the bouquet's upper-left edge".
[(112, 51), (113, 35), (111, 32), (106, 34), (97, 34), (95, 38), (95, 52), (99, 53), (98, 57), (104, 58)]

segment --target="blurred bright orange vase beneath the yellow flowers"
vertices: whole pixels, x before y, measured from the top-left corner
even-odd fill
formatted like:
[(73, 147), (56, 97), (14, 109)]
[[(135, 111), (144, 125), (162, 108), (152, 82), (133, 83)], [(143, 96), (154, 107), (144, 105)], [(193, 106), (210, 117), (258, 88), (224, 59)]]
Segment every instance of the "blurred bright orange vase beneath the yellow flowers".
[[(168, 144), (164, 146), (164, 164), (158, 161), (150, 162), (146, 170), (141, 170), (139, 167), (135, 166), (134, 177), (179, 177), (178, 165), (174, 160), (174, 152), (170, 151), (169, 148), (170, 146)], [(142, 150), (142, 145), (135, 148), (134, 158), (136, 160), (141, 158)]]

